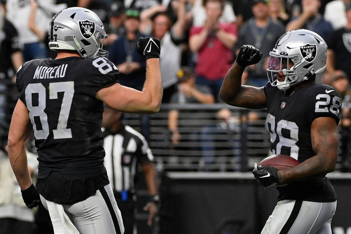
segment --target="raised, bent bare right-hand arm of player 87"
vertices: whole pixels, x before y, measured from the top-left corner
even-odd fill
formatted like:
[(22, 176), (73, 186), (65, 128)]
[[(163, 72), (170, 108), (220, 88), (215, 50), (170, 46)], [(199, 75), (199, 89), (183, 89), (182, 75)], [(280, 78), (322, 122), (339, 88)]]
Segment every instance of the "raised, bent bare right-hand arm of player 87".
[(96, 97), (113, 109), (131, 113), (157, 113), (163, 94), (159, 59), (146, 60), (146, 80), (142, 91), (116, 83), (100, 89)]

